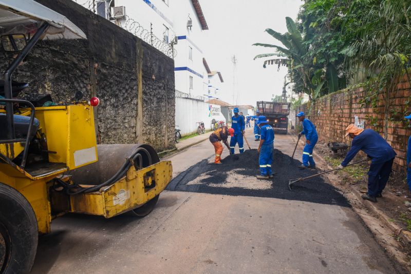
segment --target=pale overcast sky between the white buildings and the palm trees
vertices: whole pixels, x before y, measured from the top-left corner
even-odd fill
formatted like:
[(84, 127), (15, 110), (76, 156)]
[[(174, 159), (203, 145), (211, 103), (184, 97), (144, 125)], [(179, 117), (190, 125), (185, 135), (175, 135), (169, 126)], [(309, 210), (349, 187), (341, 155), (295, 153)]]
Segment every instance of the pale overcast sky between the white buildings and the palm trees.
[[(301, 0), (202, 0), (200, 1), (209, 30), (203, 32), (206, 43), (204, 57), (211, 70), (221, 72), (224, 82), (220, 99), (233, 103), (233, 64), (237, 58), (238, 104), (255, 105), (270, 101), (272, 94), (281, 94), (287, 68), (267, 66), (255, 55), (272, 52), (271, 48), (251, 46), (268, 43), (281, 46), (264, 30), (287, 31), (285, 17), (296, 18)], [(237, 85), (238, 83), (238, 85)], [(238, 87), (238, 88), (237, 88)], [(236, 102), (234, 102), (236, 103)]]

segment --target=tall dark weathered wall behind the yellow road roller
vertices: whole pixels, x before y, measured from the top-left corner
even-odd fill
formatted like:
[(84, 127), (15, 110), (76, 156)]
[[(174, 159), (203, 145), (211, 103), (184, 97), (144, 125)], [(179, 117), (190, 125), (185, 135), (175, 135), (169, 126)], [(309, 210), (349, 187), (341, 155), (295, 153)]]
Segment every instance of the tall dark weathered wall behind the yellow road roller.
[[(87, 40), (39, 42), (13, 80), (30, 83), (28, 92), (50, 93), (54, 101), (69, 102), (78, 90), (85, 98), (98, 96), (100, 143), (148, 143), (158, 151), (173, 148), (174, 61), (73, 1), (36, 2), (65, 15)], [(12, 55), (0, 51), (2, 55), (4, 72)]]

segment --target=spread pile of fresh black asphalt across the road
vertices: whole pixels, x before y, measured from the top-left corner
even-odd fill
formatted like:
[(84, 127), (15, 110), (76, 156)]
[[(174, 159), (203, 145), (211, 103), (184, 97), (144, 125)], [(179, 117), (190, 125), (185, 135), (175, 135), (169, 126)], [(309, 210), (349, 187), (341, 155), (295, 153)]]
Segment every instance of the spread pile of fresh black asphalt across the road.
[[(242, 154), (227, 156), (221, 161), (222, 165), (209, 164), (208, 160), (204, 159), (178, 174), (166, 189), (348, 206), (345, 197), (332, 185), (326, 183), (321, 176), (297, 182), (293, 184), (292, 191), (290, 191), (288, 188), (289, 180), (307, 177), (316, 174), (318, 171), (298, 168), (302, 164), (300, 161), (291, 159), (289, 155), (278, 149), (274, 149), (273, 153), (272, 171), (275, 174), (274, 178), (269, 180), (271, 188), (247, 188), (247, 180), (256, 180), (255, 176), (259, 174), (258, 156), (257, 150), (251, 149)], [(238, 182), (239, 184), (236, 187), (219, 187), (219, 184), (226, 184), (228, 177), (230, 177), (230, 181), (238, 177), (242, 182)], [(196, 181), (196, 183), (190, 184), (193, 181)], [(264, 183), (264, 181), (258, 182)], [(238, 186), (242, 183), (245, 187)]]

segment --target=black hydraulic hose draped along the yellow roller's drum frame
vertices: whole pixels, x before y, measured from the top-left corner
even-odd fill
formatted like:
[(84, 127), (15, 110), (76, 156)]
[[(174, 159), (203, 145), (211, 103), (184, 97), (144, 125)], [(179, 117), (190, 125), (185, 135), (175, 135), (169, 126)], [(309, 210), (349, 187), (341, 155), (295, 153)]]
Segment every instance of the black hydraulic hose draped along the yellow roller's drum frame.
[[(143, 157), (141, 155), (140, 152), (144, 152), (145, 155), (147, 156), (148, 159), (148, 166), (151, 166), (153, 164), (150, 152), (148, 152), (147, 149), (143, 148), (143, 147), (138, 147), (133, 154), (129, 157), (126, 158), (126, 160), (124, 161), (123, 165), (120, 167), (120, 169), (116, 172), (116, 174), (113, 175), (113, 177), (111, 177), (110, 179), (108, 179), (107, 181), (105, 181), (104, 183), (101, 183), (99, 185), (96, 186), (91, 186), (91, 187), (81, 187), (79, 185), (71, 185), (72, 187), (67, 187), (66, 184), (62, 184), (61, 180), (55, 180), (55, 182), (61, 184), (65, 189), (66, 189), (66, 193), (69, 195), (76, 195), (79, 193), (89, 193), (89, 192), (93, 192), (93, 191), (97, 191), (100, 188), (104, 187), (104, 186), (108, 186), (111, 185), (115, 182), (117, 182), (118, 180), (120, 180), (121, 178), (123, 178), (126, 173), (127, 170), (135, 163), (135, 161), (138, 159), (139, 160), (139, 168), (142, 169), (143, 168)], [(77, 189), (77, 191), (71, 191), (72, 189)]]

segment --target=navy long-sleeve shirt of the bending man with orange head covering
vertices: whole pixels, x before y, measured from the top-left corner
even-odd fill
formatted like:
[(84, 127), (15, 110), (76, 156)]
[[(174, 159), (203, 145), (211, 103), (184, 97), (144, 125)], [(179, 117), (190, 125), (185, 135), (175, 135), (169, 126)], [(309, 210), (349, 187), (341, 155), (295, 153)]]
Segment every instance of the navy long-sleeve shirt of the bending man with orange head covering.
[(347, 166), (360, 150), (370, 156), (372, 163), (375, 164), (389, 161), (397, 155), (394, 149), (388, 145), (387, 141), (385, 141), (380, 134), (372, 129), (365, 129), (352, 139), (351, 149), (348, 151), (341, 165), (344, 167)]

